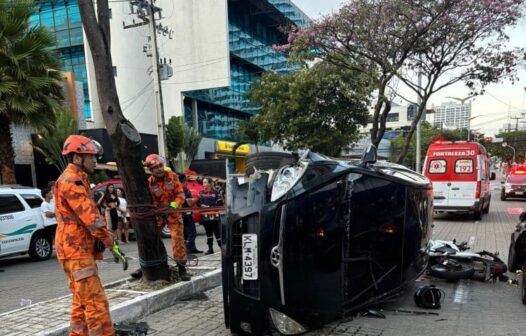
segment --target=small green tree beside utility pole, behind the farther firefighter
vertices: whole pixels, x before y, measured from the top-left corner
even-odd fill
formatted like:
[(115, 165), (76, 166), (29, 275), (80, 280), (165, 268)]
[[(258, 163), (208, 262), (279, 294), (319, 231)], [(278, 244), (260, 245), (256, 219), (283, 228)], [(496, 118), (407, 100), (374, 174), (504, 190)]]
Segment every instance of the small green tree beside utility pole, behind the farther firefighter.
[(195, 128), (188, 127), (182, 117), (171, 117), (167, 125), (166, 138), (168, 154), (175, 169), (180, 172), (185, 171), (197, 155), (202, 135)]

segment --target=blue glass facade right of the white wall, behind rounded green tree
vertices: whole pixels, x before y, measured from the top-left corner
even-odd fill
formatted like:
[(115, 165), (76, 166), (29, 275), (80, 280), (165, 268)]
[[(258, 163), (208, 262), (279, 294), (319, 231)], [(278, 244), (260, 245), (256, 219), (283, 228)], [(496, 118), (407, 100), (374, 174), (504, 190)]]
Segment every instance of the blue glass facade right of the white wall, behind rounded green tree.
[[(239, 2), (228, 5), (231, 86), (189, 91), (184, 95), (197, 100), (197, 121), (203, 136), (238, 141), (239, 121), (260, 112), (259, 106), (250, 103), (247, 97), (254, 80), (267, 71), (286, 73), (297, 69), (287, 62), (285, 55), (272, 49), (273, 44), (287, 43), (287, 35), (279, 27), (305, 26), (307, 16), (284, 0), (250, 0), (243, 2), (243, 6)], [(262, 14), (259, 5), (266, 6), (268, 14)], [(185, 100), (185, 120), (192, 125), (190, 99)]]

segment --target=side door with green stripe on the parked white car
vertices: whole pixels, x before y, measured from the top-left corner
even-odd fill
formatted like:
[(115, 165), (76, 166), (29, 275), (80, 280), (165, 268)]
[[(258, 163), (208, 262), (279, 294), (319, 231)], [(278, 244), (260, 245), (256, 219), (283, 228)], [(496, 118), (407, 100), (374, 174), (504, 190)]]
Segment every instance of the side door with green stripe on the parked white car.
[(27, 232), (31, 233), (36, 223), (26, 210), (16, 194), (0, 194), (0, 255), (27, 250)]

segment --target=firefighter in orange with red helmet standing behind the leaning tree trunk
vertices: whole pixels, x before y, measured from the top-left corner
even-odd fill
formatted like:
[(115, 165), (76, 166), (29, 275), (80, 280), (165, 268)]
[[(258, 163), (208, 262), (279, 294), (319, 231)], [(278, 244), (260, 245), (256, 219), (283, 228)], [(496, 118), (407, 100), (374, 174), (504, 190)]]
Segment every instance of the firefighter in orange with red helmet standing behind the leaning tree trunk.
[[(179, 208), (185, 202), (183, 185), (177, 175), (171, 170), (165, 169), (164, 159), (157, 154), (150, 154), (146, 157), (146, 167), (152, 173), (148, 178), (148, 187), (152, 195), (153, 204), (157, 207)], [(177, 268), (179, 278), (182, 281), (189, 281), (190, 277), (186, 272), (186, 244), (184, 241), (184, 226), (181, 213), (171, 213), (160, 216), (157, 221), (159, 232), (164, 225), (168, 225), (172, 237), (172, 253)]]

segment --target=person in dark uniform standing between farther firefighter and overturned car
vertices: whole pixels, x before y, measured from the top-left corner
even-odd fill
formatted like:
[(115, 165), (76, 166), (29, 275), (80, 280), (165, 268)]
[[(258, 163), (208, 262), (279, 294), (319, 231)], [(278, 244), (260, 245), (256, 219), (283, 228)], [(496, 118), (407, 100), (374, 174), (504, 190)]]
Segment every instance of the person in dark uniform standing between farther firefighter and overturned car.
[[(199, 192), (199, 199), (197, 200), (199, 206), (209, 208), (223, 205), (221, 196), (219, 196), (219, 193), (213, 189), (211, 178), (205, 177), (203, 179), (203, 187), (204, 189)], [(207, 214), (206, 212), (201, 213), (201, 224), (205, 227), (206, 243), (208, 244), (208, 251), (205, 252), (206, 255), (214, 253), (214, 236), (216, 237), (217, 245), (221, 248), (219, 216), (215, 215), (215, 211), (210, 214)]]

